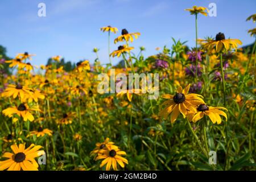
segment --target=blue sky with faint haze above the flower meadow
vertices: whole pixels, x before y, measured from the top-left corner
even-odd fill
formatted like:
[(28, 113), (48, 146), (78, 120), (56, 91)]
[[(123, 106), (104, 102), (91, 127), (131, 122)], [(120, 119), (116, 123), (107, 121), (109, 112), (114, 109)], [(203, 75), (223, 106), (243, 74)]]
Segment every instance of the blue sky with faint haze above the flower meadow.
[[(38, 4), (46, 3), (46, 17), (38, 16)], [(1, 0), (0, 44), (7, 55), (28, 51), (35, 53), (32, 64), (45, 64), (51, 56), (61, 55), (77, 62), (96, 58), (92, 49), (100, 49), (102, 63), (108, 63), (108, 35), (100, 27), (114, 26), (141, 32), (131, 45), (135, 53), (146, 47), (144, 55), (155, 54), (156, 47), (171, 47), (171, 37), (195, 45), (195, 16), (184, 11), (193, 5), (208, 7), (216, 3), (217, 17), (199, 15), (199, 38), (224, 32), (227, 38), (240, 39), (243, 45), (253, 43), (247, 30), (255, 24), (246, 18), (256, 13), (256, 1), (232, 0)], [(119, 44), (111, 44), (112, 51)], [(114, 59), (118, 63), (118, 59)]]

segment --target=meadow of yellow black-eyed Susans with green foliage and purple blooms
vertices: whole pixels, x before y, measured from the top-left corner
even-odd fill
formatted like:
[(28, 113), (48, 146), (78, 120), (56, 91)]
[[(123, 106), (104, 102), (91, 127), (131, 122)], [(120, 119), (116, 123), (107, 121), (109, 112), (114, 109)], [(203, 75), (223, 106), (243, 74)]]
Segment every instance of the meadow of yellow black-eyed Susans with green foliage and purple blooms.
[[(255, 170), (256, 42), (241, 48), (225, 27), (199, 39), (197, 19), (207, 12), (184, 11), (195, 16), (195, 47), (172, 38), (155, 55), (144, 57), (144, 47), (135, 55), (141, 33), (106, 26), (99, 32), (108, 38), (106, 65), (97, 48), (94, 61), (72, 69), (59, 55), (39, 67), (34, 53), (2, 57), (0, 171)], [(151, 90), (159, 97), (128, 86), (99, 93), (98, 76), (110, 69), (158, 74)]]

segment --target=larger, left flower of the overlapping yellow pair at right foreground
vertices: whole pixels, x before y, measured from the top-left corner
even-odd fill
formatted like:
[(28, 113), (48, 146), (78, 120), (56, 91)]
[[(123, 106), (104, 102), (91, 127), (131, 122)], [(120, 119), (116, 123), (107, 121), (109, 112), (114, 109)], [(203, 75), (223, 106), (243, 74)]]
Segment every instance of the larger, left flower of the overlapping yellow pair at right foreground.
[(196, 111), (195, 106), (204, 104), (203, 96), (195, 93), (189, 94), (189, 88), (190, 84), (185, 89), (179, 86), (175, 95), (163, 94), (162, 97), (168, 100), (164, 101), (162, 105), (167, 106), (160, 111), (159, 115), (167, 119), (171, 114), (171, 122), (174, 123), (180, 113), (185, 118), (188, 110)]

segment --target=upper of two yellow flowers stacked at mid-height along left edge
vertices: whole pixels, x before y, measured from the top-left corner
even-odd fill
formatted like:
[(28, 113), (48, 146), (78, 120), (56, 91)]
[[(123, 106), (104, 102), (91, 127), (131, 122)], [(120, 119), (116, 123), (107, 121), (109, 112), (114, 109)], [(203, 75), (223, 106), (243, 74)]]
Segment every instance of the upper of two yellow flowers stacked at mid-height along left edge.
[(30, 88), (24, 85), (8, 85), (3, 92), (4, 97), (13, 97), (16, 98), (19, 96), (20, 99), (26, 97), (26, 95), (30, 94)]

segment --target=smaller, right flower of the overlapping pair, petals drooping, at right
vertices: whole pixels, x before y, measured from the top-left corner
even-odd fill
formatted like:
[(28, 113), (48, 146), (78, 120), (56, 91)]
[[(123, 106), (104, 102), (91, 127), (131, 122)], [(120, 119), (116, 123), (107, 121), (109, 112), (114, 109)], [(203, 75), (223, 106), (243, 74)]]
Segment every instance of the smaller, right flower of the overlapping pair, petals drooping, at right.
[(217, 122), (217, 124), (221, 123), (220, 115), (223, 115), (227, 121), (228, 117), (226, 116), (226, 113), (224, 113), (224, 111), (222, 111), (220, 109), (228, 110), (225, 107), (211, 107), (211, 106), (207, 106), (205, 104), (200, 104), (197, 107), (197, 112), (193, 116), (192, 121), (197, 122), (197, 121), (199, 121), (199, 119), (203, 118), (204, 115), (208, 115), (208, 117), (210, 118), (210, 120), (213, 123), (216, 123), (216, 122)]

